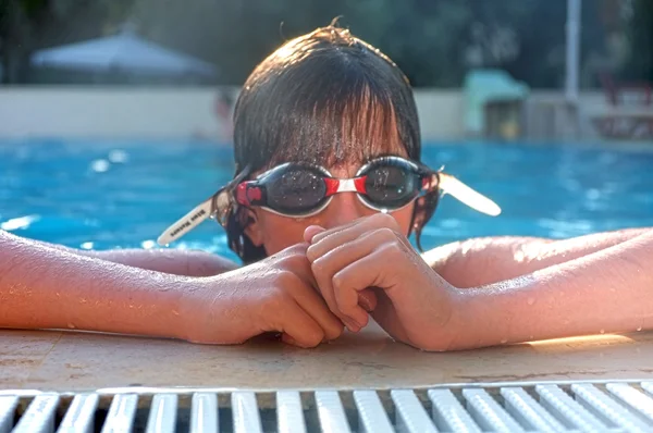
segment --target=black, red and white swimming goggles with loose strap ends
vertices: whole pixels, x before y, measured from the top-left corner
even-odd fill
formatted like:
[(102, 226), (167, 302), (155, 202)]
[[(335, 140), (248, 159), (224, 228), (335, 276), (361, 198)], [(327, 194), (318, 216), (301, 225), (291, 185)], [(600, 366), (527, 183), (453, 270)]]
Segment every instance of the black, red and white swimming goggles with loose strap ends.
[(480, 212), (501, 213), (496, 203), (455, 177), (399, 157), (373, 159), (353, 178), (336, 178), (322, 166), (294, 162), (278, 165), (254, 181), (244, 182), (246, 172), (171, 225), (158, 243), (168, 245), (178, 239), (207, 218), (226, 226), (230, 212), (237, 206), (260, 207), (283, 216), (312, 216), (341, 193), (356, 193), (366, 207), (393, 212), (420, 195), (440, 190)]

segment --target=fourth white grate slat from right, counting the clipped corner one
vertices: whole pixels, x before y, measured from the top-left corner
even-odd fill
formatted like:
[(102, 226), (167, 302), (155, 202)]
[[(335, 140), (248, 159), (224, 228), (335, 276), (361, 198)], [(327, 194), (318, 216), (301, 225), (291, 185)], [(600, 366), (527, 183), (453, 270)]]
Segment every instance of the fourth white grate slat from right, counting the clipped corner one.
[(605, 423), (590, 413), (557, 385), (537, 385), (540, 404), (567, 426), (582, 432), (604, 432)]

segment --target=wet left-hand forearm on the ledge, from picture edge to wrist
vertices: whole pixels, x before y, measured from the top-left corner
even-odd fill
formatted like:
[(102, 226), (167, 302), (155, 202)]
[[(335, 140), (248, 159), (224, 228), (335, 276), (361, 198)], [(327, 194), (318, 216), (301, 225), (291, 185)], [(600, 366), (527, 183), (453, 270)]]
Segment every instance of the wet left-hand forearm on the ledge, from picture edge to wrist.
[(0, 327), (181, 337), (193, 279), (66, 252), (0, 231)]

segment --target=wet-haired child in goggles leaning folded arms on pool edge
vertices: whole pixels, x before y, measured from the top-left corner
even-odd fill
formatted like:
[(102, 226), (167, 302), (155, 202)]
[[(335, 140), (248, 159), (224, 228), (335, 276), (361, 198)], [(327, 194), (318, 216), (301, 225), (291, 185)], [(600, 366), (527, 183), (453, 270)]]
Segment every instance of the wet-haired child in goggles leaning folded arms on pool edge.
[(256, 67), (236, 103), (234, 146), (234, 182), (161, 242), (214, 212), (244, 267), (197, 251), (78, 251), (0, 232), (0, 326), (204, 344), (279, 332), (312, 347), (371, 317), (427, 350), (653, 327), (648, 228), (416, 251), (407, 236), (419, 238), (442, 190), (498, 210), (419, 162), (408, 82), (347, 30), (320, 28)]

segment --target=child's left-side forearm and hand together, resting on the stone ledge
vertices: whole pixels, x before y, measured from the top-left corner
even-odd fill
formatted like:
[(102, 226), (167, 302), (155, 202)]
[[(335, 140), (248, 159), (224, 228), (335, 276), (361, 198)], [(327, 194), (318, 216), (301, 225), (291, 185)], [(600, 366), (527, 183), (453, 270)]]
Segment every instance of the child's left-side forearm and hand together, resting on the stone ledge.
[(298, 346), (340, 336), (306, 246), (210, 277), (147, 271), (0, 231), (0, 329), (78, 329), (236, 344), (263, 332)]

